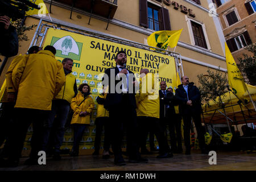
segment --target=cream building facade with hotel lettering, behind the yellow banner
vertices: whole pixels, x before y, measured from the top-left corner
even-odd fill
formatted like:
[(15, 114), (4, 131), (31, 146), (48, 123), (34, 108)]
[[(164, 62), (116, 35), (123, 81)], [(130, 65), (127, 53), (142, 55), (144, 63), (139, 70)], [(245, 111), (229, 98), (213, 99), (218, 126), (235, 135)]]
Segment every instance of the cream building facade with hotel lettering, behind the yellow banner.
[[(225, 38), (217, 14), (210, 14), (211, 0), (95, 0), (44, 1), (49, 16), (27, 16), (26, 25), (54, 23), (77, 30), (96, 32), (123, 40), (147, 45), (147, 37), (154, 31), (180, 30), (176, 48), (169, 51), (180, 53), (184, 75), (197, 82), (197, 75), (207, 69), (226, 71)], [(36, 28), (26, 32), (27, 42), (22, 42), (19, 53), (26, 53), (31, 46)], [(10, 65), (7, 62), (7, 67)], [(3, 74), (1, 82), (3, 81)]]

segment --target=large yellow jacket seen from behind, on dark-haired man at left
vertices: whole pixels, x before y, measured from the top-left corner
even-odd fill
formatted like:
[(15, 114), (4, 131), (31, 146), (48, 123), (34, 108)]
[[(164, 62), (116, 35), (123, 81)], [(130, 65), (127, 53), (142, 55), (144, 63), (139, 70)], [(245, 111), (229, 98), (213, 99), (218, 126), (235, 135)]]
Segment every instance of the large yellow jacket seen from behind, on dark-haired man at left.
[(18, 96), (15, 107), (51, 110), (52, 99), (65, 83), (63, 65), (51, 51), (23, 57), (13, 69), (12, 80)]

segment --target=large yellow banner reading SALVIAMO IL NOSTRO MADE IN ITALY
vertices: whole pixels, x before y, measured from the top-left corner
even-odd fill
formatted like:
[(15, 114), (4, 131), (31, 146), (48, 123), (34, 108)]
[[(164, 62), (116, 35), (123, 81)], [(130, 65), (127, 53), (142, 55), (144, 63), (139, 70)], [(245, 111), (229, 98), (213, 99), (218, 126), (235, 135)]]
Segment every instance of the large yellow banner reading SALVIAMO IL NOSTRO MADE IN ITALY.
[(162, 53), (53, 28), (47, 32), (44, 47), (47, 45), (56, 48), (57, 60), (62, 61), (65, 57), (74, 60), (73, 75), (77, 78), (77, 84), (88, 83), (94, 99), (100, 91), (105, 69), (115, 67), (115, 54), (121, 49), (127, 54), (127, 69), (135, 73), (137, 80), (141, 69), (147, 68), (151, 73), (159, 73), (159, 84), (166, 81), (167, 86), (176, 86), (175, 59)]

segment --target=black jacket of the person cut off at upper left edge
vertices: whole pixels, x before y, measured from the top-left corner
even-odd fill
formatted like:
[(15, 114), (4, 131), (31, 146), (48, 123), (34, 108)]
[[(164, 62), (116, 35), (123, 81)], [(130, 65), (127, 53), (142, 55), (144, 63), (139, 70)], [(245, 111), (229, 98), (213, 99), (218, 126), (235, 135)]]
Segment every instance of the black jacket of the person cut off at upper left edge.
[(19, 42), (15, 27), (10, 25), (8, 30), (0, 27), (0, 40), (0, 53), (2, 56), (12, 57), (18, 54)]

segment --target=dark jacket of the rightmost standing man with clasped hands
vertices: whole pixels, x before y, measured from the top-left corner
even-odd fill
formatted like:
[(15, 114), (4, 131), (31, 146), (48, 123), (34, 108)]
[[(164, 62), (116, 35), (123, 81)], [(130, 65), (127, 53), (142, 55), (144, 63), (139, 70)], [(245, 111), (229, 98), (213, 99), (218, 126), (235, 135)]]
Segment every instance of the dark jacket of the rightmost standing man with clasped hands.
[[(188, 98), (187, 92), (182, 84), (175, 90), (175, 97), (179, 102), (179, 111), (181, 114), (188, 114), (191, 111), (201, 113), (201, 94), (193, 82), (189, 82), (188, 84)], [(188, 99), (192, 101), (192, 106), (187, 105)]]

